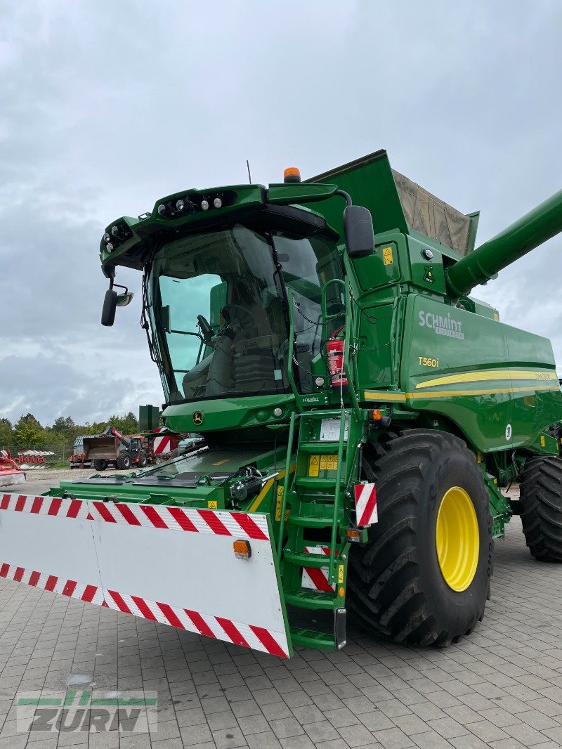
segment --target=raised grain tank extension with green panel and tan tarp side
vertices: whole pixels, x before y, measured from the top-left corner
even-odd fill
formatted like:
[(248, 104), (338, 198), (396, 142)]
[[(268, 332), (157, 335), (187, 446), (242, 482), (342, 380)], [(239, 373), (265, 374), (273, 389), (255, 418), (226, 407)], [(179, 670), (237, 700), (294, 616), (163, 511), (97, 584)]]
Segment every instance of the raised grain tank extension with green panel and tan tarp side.
[[(312, 177), (307, 182), (337, 184), (354, 203), (372, 213), (375, 231), (417, 231), (450, 247), (461, 256), (474, 249), (477, 214), (465, 215), (417, 183), (390, 168), (387, 152), (375, 151)], [(341, 233), (339, 201), (326, 211), (330, 225)], [(328, 216), (329, 213), (329, 216)]]

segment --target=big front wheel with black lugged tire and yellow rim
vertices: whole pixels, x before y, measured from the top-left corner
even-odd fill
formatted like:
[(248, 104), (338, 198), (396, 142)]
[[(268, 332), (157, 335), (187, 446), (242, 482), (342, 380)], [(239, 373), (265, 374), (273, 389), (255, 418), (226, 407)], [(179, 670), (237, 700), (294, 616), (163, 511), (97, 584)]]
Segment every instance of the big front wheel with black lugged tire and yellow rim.
[(373, 449), (378, 523), (351, 549), (348, 602), (372, 634), (444, 647), (483, 618), (492, 518), (483, 473), (462, 440), (413, 429)]

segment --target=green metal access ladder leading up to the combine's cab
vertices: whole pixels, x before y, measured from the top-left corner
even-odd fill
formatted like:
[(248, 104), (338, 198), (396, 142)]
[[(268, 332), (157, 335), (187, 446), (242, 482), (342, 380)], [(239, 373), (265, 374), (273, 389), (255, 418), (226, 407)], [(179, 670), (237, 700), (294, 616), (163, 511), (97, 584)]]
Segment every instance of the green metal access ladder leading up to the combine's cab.
[(297, 419), (296, 467), (283, 497), (288, 513), (282, 587), (288, 606), (331, 611), (333, 628), (291, 626), (291, 639), (295, 645), (339, 649), (345, 645), (346, 530), (354, 526), (363, 422), (345, 407), (294, 415), (293, 429)]

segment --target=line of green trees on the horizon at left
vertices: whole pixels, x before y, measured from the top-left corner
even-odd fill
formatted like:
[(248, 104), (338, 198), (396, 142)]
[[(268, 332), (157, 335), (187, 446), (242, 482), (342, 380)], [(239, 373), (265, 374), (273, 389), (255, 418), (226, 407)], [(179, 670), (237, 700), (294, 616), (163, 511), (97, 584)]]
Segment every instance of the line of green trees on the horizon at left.
[(71, 416), (59, 416), (51, 426), (41, 425), (32, 413), (26, 413), (14, 424), (9, 419), (0, 419), (0, 449), (41, 449), (43, 446), (73, 443), (76, 437), (99, 434), (108, 424), (122, 434), (136, 434), (139, 431), (139, 420), (132, 411), (125, 416), (114, 413), (107, 421), (93, 424), (76, 424)]

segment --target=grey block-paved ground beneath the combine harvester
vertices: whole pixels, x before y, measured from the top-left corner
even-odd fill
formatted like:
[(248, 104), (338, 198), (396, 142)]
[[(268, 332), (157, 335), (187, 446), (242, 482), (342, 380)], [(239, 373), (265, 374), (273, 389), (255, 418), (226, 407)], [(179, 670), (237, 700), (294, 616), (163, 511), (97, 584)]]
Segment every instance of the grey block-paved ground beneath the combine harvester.
[[(562, 567), (531, 560), (517, 518), (484, 621), (444, 651), (351, 629), (343, 652), (285, 662), (1, 580), (0, 749), (561, 747), (561, 594)], [(157, 690), (157, 731), (16, 733), (17, 691), (73, 682)]]

